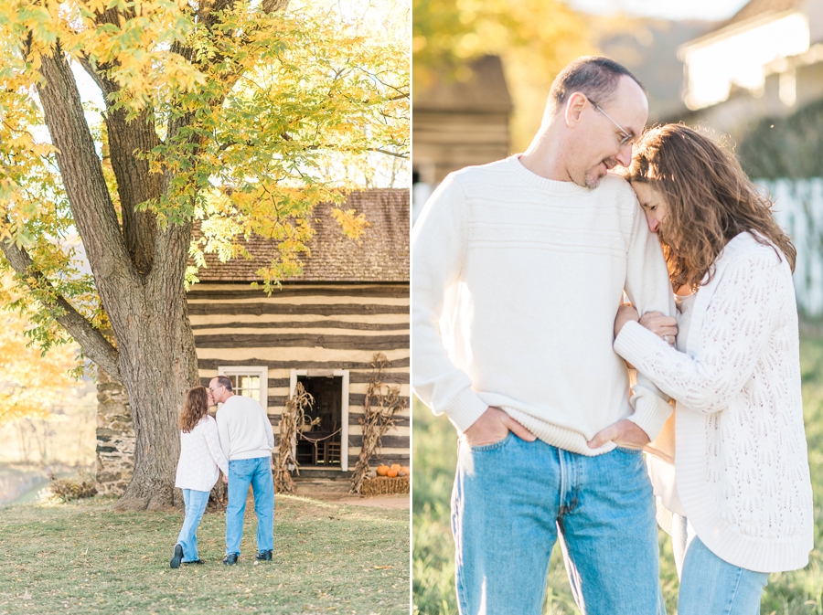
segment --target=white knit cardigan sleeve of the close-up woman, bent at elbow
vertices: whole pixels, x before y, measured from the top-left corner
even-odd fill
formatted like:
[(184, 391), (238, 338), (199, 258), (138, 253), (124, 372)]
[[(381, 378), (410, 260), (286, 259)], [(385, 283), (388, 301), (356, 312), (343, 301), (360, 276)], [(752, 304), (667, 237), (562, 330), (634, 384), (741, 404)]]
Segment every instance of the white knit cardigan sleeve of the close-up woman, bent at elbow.
[(729, 263), (700, 325), (695, 356), (680, 353), (640, 323), (626, 323), (615, 351), (686, 408), (705, 414), (728, 408), (754, 374), (774, 330), (786, 283), (768, 249)]

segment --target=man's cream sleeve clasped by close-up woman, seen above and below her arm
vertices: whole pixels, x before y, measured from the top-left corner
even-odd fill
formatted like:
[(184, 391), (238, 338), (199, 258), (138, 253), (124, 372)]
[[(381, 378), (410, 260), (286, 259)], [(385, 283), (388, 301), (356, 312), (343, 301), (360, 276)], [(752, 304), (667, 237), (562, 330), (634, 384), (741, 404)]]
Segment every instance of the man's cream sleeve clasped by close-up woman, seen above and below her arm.
[[(654, 233), (649, 232), (642, 207), (636, 198), (633, 197), (632, 200), (634, 216), (626, 256), (625, 293), (641, 314), (660, 312), (674, 316), (677, 308), (660, 242)], [(663, 340), (660, 343), (666, 344)], [(637, 384), (632, 388), (630, 402), (635, 413), (629, 420), (643, 429), (649, 440), (657, 438), (663, 424), (671, 416), (671, 406), (668, 404), (668, 397), (660, 392), (642, 370), (637, 372)]]

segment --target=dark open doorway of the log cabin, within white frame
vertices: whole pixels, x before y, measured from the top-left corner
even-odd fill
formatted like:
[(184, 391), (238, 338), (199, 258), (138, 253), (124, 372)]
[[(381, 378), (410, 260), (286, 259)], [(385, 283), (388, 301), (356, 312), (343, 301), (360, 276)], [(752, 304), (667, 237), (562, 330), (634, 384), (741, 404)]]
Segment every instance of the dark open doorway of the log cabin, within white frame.
[(317, 421), (297, 434), (296, 459), (300, 465), (340, 467), (340, 433), (343, 428), (343, 376), (297, 376), (297, 382), (314, 398), (306, 419)]

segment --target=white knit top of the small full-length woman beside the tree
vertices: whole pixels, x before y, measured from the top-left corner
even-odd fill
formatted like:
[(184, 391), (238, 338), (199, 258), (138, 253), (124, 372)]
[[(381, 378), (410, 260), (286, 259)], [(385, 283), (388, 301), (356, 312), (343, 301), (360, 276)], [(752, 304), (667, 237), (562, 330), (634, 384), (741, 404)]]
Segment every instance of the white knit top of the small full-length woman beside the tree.
[(229, 460), (220, 448), (217, 421), (207, 414), (188, 433), (180, 431), (175, 486), (211, 491), (219, 478), (218, 468), (229, 475)]

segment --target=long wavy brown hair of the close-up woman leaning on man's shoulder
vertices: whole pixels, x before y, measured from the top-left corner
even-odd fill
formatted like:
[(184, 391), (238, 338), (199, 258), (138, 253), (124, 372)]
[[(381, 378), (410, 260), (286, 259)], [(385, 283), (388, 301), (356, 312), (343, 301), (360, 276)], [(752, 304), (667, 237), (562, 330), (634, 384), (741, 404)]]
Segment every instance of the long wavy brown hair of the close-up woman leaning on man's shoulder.
[[(772, 202), (758, 193), (737, 159), (709, 137), (681, 124), (647, 131), (622, 175), (657, 189), (668, 215), (657, 231), (675, 290), (696, 290), (723, 247), (742, 232), (768, 239), (795, 270), (796, 249), (772, 217)], [(779, 256), (779, 254), (778, 254)]]

